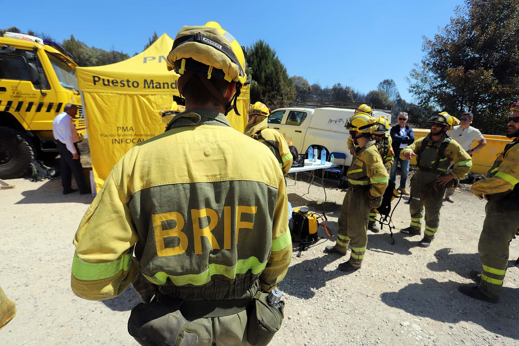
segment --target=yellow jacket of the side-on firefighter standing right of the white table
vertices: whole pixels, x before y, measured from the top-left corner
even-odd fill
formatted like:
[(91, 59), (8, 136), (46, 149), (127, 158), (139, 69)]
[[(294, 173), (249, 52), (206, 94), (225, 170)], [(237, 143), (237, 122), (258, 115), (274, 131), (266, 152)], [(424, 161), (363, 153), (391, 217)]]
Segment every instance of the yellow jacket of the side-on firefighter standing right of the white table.
[(389, 174), (375, 146), (375, 141), (367, 143), (362, 148), (357, 147), (355, 149), (355, 154), (346, 174), (348, 182), (352, 185), (370, 185), (372, 197), (384, 195), (389, 182)]

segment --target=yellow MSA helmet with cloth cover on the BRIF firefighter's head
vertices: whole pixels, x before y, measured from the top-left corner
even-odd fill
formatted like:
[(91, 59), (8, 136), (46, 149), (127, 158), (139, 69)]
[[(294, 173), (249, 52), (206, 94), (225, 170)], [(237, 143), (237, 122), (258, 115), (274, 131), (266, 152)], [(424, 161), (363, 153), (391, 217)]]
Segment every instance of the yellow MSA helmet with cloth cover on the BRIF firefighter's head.
[[(240, 115), (236, 102), (241, 87), (248, 84), (246, 58), (245, 48), (233, 35), (223, 30), (220, 24), (207, 22), (203, 26), (181, 27), (168, 54), (167, 67), (168, 71), (174, 70), (185, 76), (178, 81), (181, 95), (189, 78), (198, 75), (213, 96), (225, 106), (226, 115), (233, 108)], [(230, 102), (214, 88), (209, 81), (211, 77), (236, 82), (236, 93)]]

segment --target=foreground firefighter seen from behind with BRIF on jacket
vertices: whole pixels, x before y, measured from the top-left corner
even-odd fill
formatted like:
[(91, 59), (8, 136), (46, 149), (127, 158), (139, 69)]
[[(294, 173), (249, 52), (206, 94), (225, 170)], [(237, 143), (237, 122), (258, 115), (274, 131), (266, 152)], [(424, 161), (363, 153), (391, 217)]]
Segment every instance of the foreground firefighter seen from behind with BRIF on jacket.
[(74, 238), (72, 290), (101, 300), (134, 284), (145, 303), (128, 331), (142, 345), (267, 344), (284, 303), (270, 310), (266, 293), (292, 243), (277, 160), (225, 118), (239, 114), (244, 48), (216, 22), (183, 26), (167, 67), (181, 75), (186, 112), (106, 178)]

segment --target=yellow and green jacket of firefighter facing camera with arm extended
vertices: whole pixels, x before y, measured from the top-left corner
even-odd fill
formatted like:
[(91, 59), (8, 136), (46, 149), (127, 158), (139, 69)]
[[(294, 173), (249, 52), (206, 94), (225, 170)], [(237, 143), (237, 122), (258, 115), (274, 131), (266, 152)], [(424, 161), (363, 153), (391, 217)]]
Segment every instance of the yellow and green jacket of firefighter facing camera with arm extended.
[(450, 172), (455, 178), (463, 178), (472, 167), (472, 158), (455, 140), (444, 134), (438, 142), (432, 142), (431, 134), (417, 139), (413, 144), (400, 150), (400, 158), (406, 160), (405, 153), (413, 151), (416, 155), (416, 169), (420, 172), (441, 174), (447, 172), (450, 162), (454, 161)]

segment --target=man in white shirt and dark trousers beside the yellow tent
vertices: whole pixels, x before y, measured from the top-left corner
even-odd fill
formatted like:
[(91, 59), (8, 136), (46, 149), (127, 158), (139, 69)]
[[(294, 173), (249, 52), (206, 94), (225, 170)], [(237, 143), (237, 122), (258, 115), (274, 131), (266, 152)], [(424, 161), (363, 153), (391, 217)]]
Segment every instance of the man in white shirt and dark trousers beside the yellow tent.
[(74, 178), (76, 179), (79, 193), (84, 195), (85, 193), (90, 193), (90, 191), (85, 182), (83, 167), (79, 160), (79, 148), (77, 147), (79, 136), (72, 122), (72, 119), (77, 114), (77, 106), (67, 103), (63, 110), (64, 112), (58, 114), (52, 122), (52, 132), (54, 133), (54, 139), (56, 140), (61, 156), (61, 185), (63, 186), (63, 195), (77, 191), (77, 189), (71, 187), (72, 174), (74, 174)]

